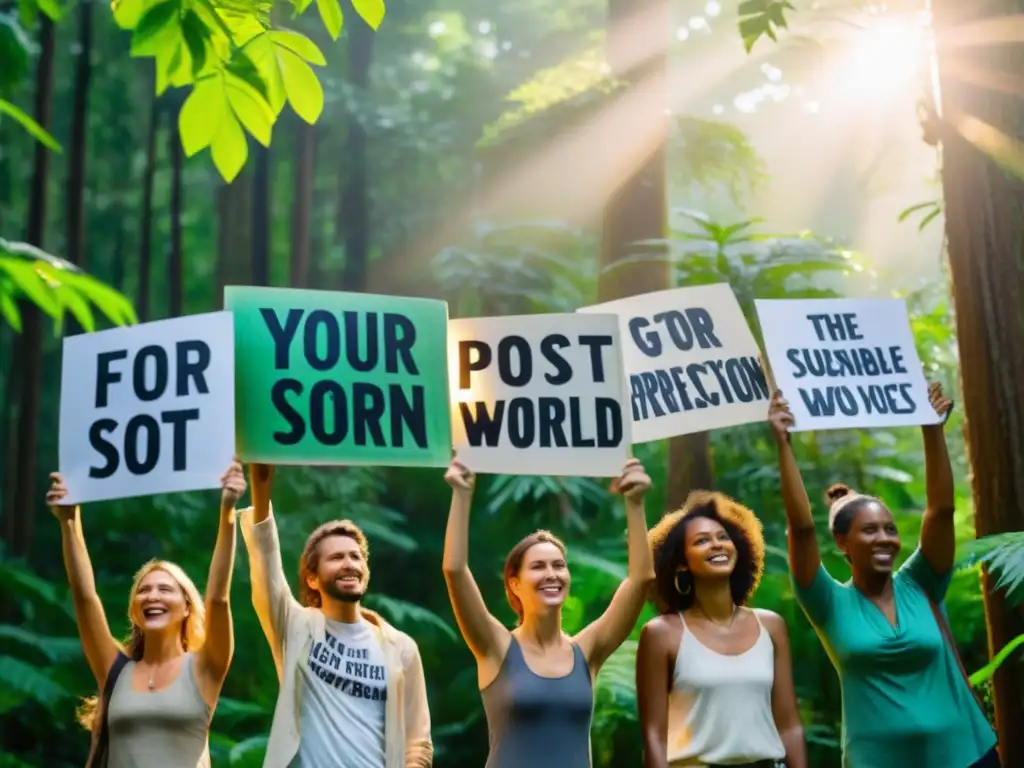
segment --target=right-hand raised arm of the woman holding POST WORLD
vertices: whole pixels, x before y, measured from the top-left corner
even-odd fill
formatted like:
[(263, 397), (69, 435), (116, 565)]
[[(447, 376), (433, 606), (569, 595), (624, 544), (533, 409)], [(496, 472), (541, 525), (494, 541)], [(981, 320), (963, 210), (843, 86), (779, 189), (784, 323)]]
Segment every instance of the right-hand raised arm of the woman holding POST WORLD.
[(647, 599), (647, 591), (654, 582), (654, 559), (647, 542), (647, 520), (643, 509), (643, 496), (650, 487), (650, 477), (639, 461), (630, 459), (613, 487), (626, 497), (629, 570), (604, 613), (575, 638), (594, 677), (608, 656), (633, 632)]

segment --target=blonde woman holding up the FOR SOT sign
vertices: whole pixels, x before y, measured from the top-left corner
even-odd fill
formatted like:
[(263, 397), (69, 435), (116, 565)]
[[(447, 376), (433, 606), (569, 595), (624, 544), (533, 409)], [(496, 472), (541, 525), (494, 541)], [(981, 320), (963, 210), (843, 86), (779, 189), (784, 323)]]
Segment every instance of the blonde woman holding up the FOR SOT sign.
[[(210, 718), (227, 676), (234, 639), (228, 603), (234, 564), (234, 505), (246, 489), (236, 462), (221, 478), (220, 525), (204, 604), (196, 585), (177, 565), (151, 560), (135, 574), (128, 597), (131, 635), (124, 645), (111, 634), (96, 594), (92, 564), (77, 505), (65, 505), (68, 488), (52, 474), (46, 503), (60, 523), (68, 582), (82, 649), (99, 689), (123, 653), (106, 707), (104, 765), (94, 753), (90, 768), (208, 768)], [(94, 729), (103, 718), (96, 698), (86, 701), (82, 723)]]

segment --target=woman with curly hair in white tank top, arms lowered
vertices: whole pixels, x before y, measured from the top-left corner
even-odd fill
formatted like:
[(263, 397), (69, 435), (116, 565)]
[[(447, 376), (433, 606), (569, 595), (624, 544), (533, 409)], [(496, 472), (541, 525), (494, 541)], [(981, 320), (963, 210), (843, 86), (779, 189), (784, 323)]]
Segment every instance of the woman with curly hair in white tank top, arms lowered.
[(758, 518), (698, 490), (648, 538), (660, 615), (637, 648), (644, 768), (805, 768), (785, 623), (746, 607), (764, 571)]

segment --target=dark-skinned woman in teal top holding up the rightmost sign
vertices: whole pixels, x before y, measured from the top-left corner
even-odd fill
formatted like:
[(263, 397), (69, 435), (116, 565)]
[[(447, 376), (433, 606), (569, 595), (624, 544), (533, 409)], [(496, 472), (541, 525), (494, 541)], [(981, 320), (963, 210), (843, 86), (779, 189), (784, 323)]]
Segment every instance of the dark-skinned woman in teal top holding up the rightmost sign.
[[(768, 421), (778, 446), (797, 600), (843, 688), (844, 768), (997, 768), (995, 733), (947, 639), (942, 601), (952, 575), (953, 478), (945, 418), (952, 401), (929, 389), (941, 424), (923, 427), (927, 506), (921, 542), (893, 572), (902, 542), (879, 499), (828, 490), (828, 524), (852, 579), (821, 564), (811, 505), (790, 444), (794, 417), (781, 392)], [(940, 625), (940, 622), (942, 625)]]

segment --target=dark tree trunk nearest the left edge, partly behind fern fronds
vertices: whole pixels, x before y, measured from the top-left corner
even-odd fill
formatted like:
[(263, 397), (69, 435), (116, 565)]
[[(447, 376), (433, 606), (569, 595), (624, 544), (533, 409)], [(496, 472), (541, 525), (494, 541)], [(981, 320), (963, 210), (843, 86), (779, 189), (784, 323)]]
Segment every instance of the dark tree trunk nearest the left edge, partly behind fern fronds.
[[(53, 93), (54, 25), (41, 16), (39, 25), (39, 60), (36, 65), (35, 119), (43, 128), (50, 127)], [(36, 142), (34, 147), (32, 188), (29, 194), (29, 217), (26, 240), (44, 247), (46, 231), (46, 191), (50, 172), (50, 151)], [(43, 315), (33, 304), (20, 302), (23, 330), (14, 350), (12, 370), (17, 371), (14, 407), (17, 424), (13, 432), (7, 487), (8, 500), (4, 521), (6, 551), (13, 557), (28, 557), (35, 534), (36, 449), (39, 439), (39, 393), (43, 362)]]

